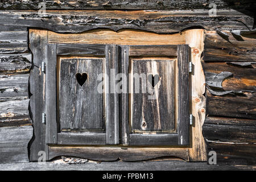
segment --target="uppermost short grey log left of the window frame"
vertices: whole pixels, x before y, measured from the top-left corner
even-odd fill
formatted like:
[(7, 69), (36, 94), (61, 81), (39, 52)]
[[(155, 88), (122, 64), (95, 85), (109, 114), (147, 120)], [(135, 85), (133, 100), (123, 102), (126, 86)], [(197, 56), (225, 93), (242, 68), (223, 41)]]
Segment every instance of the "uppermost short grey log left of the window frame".
[(0, 53), (26, 52), (27, 31), (0, 32)]

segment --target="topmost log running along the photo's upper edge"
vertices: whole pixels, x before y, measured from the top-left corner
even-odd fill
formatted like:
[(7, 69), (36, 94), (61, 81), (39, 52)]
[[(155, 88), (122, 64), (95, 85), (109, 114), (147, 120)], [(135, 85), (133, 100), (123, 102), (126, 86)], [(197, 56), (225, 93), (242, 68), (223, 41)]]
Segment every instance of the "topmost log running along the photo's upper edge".
[[(106, 9), (120, 9), (120, 10), (191, 10), (191, 9), (210, 9), (209, 1), (200, 0), (196, 2), (174, 1), (174, 0), (138, 0), (138, 1), (118, 1), (118, 0), (96, 0), (96, 1), (32, 1), (32, 0), (16, 0), (11, 3), (0, 3), (0, 9), (7, 10), (39, 10), (43, 5), (47, 10), (106, 10)], [(253, 0), (246, 0), (237, 2), (234, 0), (214, 1), (218, 9), (252, 9), (255, 5)], [(253, 10), (253, 9), (252, 9)]]

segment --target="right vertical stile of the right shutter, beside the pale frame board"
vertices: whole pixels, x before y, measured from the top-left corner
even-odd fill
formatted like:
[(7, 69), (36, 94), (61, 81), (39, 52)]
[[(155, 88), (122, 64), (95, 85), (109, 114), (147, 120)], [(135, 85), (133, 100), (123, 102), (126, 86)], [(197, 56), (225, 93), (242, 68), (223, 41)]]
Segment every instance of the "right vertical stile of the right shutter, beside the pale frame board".
[(189, 144), (189, 54), (188, 45), (177, 46), (177, 133), (181, 145)]

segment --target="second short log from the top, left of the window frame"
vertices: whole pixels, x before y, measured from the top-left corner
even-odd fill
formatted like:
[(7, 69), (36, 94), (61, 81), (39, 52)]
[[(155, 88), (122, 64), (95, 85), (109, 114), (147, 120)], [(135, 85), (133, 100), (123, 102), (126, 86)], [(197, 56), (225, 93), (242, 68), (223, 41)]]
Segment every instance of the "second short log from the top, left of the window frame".
[(31, 53), (1, 54), (0, 73), (1, 74), (21, 74), (29, 73), (32, 65)]

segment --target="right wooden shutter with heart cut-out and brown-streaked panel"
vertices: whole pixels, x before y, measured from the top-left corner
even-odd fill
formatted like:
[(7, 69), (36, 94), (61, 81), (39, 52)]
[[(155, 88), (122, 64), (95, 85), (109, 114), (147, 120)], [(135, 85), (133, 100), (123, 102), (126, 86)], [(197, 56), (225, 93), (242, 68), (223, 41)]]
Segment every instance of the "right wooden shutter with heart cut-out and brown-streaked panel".
[[(120, 52), (120, 72), (130, 76), (124, 84), (129, 95), (122, 93), (120, 96), (122, 143), (135, 146), (188, 145), (189, 47), (121, 46)], [(135, 75), (139, 75), (139, 79), (135, 79)]]

